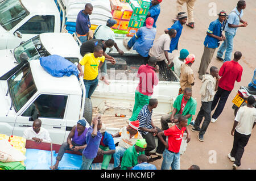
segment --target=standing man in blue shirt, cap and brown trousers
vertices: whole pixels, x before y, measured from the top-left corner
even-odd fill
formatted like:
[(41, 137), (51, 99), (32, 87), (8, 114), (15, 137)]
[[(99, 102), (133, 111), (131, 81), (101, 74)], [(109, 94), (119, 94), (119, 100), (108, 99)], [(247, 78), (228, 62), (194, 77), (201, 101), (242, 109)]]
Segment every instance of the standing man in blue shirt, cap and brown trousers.
[(220, 11), (218, 19), (210, 23), (207, 30), (207, 36), (204, 40), (204, 53), (201, 58), (200, 67), (198, 70), (199, 78), (203, 79), (203, 75), (206, 74), (210, 60), (212, 60), (215, 49), (220, 45), (220, 41), (225, 40), (225, 36), (222, 35), (223, 22), (226, 19), (226, 12)]

